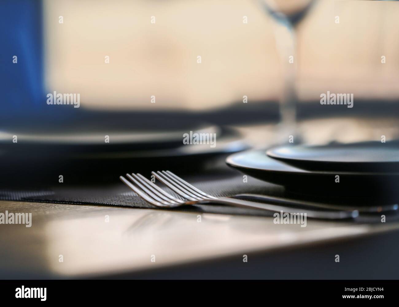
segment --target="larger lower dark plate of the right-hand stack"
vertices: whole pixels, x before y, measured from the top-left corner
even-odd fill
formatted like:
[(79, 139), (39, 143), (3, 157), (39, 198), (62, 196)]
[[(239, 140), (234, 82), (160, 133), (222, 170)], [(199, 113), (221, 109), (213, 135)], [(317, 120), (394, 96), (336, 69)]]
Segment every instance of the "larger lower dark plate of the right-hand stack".
[(391, 196), (398, 190), (399, 172), (309, 171), (273, 159), (264, 150), (235, 153), (226, 163), (255, 178), (301, 192)]

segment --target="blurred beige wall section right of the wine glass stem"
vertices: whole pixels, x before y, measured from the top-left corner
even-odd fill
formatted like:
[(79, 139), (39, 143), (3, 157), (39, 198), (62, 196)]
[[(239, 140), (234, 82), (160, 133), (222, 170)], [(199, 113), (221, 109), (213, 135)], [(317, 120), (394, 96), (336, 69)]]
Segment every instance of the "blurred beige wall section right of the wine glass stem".
[(399, 2), (320, 2), (298, 27), (298, 57), (301, 99), (327, 90), (399, 99)]

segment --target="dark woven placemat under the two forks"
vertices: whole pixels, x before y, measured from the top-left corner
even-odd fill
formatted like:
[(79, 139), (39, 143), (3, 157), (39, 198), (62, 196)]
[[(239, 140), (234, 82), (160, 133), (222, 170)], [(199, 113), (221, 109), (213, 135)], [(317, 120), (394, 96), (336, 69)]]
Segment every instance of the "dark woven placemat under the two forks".
[[(148, 174), (150, 173), (148, 172)], [(333, 195), (309, 194), (309, 191), (307, 191), (306, 194), (298, 193), (298, 191), (286, 191), (282, 186), (260, 181), (250, 176), (247, 176), (247, 180), (244, 180), (243, 174), (235, 170), (223, 171), (222, 173), (220, 171), (218, 171), (217, 173), (198, 173), (196, 175), (185, 175), (182, 177), (200, 190), (203, 190), (208, 194), (220, 197), (233, 196), (235, 194), (241, 193), (253, 193), (294, 198), (299, 200), (312, 200), (332, 204), (352, 204), (356, 206), (367, 206), (367, 204), (378, 203), (378, 198), (342, 198), (334, 197)], [(169, 188), (164, 187), (163, 185), (159, 186), (166, 190), (168, 193), (174, 195), (175, 197), (182, 199)], [(110, 185), (94, 187), (89, 187), (87, 185), (66, 186), (63, 184), (59, 184), (58, 186), (42, 190), (12, 188), (0, 189), (0, 200), (47, 202), (61, 204), (94, 204), (106, 206), (125, 206), (132, 208), (156, 208), (152, 204), (149, 204), (148, 202), (140, 198), (132, 190), (126, 187), (122, 182), (119, 182), (119, 179), (116, 179), (115, 183)], [(214, 204), (197, 204), (192, 206), (182, 206), (174, 209), (160, 210), (179, 210), (251, 216), (273, 216), (272, 212), (267, 212), (265, 210), (238, 208), (233, 206)], [(387, 222), (396, 220), (399, 220), (399, 214), (387, 214)], [(381, 214), (361, 214), (356, 222), (380, 223)]]

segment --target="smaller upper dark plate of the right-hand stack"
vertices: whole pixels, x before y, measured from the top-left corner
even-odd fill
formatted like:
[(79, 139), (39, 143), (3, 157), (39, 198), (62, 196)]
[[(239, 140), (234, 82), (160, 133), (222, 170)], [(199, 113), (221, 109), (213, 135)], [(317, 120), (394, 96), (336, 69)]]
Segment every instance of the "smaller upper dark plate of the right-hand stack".
[(269, 157), (312, 171), (398, 172), (398, 142), (279, 146)]

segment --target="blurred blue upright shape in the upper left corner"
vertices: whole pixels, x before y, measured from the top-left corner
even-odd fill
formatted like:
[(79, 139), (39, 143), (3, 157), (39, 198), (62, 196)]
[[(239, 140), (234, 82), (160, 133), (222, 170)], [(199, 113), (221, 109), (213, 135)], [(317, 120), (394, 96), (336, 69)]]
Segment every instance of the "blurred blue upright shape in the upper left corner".
[(40, 113), (45, 107), (42, 2), (1, 1), (0, 37), (0, 119)]

